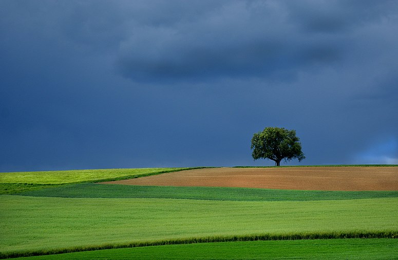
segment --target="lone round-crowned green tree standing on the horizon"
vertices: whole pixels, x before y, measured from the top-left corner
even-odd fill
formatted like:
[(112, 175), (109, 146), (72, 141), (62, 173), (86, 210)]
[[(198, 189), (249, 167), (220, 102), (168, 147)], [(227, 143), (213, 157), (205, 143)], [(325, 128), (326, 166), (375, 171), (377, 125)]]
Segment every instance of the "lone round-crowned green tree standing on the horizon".
[(280, 166), (282, 159), (287, 161), (297, 158), (301, 161), (306, 157), (301, 152), (299, 140), (295, 130), (266, 127), (262, 132), (253, 135), (251, 147), (253, 159), (270, 159), (275, 161), (276, 166)]

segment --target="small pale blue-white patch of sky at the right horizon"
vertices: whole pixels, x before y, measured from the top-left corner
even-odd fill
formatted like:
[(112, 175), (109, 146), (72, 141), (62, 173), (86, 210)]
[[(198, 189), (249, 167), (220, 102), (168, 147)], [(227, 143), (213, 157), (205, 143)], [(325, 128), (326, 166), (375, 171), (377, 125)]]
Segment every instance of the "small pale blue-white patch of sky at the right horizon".
[(398, 139), (388, 138), (375, 142), (354, 158), (358, 164), (398, 164)]

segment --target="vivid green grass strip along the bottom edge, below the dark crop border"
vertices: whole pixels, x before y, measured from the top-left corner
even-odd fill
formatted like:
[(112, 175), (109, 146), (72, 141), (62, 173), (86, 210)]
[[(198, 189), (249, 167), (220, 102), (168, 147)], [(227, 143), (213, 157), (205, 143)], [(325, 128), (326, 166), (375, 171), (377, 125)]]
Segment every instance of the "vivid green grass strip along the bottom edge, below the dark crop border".
[[(86, 251), (23, 259), (396, 259), (397, 239), (224, 242)], [(294, 249), (294, 250), (292, 250)]]

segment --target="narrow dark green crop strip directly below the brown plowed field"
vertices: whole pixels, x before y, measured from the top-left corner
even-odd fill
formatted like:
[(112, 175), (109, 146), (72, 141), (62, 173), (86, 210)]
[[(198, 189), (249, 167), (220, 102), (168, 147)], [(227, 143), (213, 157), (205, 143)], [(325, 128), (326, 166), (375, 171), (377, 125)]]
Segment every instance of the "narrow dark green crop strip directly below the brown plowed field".
[(20, 193), (64, 198), (174, 198), (234, 201), (305, 201), (398, 197), (398, 191), (294, 191), (224, 187), (159, 187), (79, 183)]

